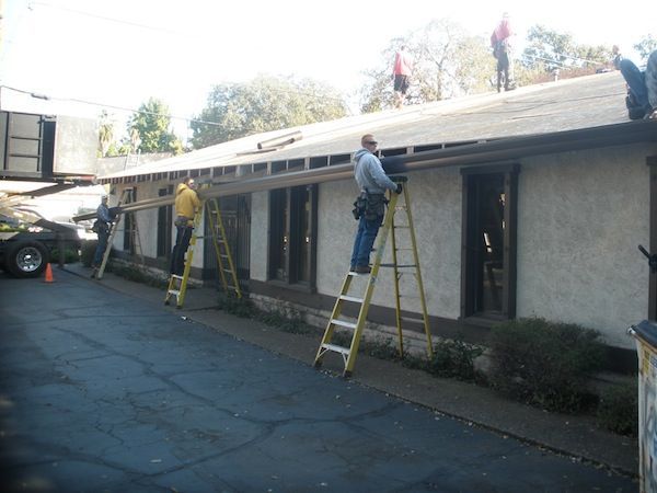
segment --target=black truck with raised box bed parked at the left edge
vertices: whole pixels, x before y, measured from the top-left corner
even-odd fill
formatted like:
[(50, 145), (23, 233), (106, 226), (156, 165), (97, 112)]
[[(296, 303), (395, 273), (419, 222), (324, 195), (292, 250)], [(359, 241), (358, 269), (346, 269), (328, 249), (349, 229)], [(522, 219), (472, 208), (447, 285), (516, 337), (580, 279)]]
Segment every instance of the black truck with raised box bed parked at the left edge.
[(66, 249), (79, 251), (83, 227), (49, 220), (25, 203), (94, 184), (96, 146), (93, 119), (0, 111), (0, 268), (37, 277), (55, 249), (60, 263)]

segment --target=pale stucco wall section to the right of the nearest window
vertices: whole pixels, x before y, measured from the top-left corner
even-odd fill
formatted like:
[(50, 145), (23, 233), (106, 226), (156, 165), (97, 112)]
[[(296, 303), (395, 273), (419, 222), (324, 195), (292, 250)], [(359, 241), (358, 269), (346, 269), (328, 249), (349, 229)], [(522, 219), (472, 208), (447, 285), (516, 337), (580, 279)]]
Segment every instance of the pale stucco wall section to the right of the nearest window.
[[(653, 153), (656, 149), (653, 149)], [(518, 317), (579, 323), (632, 348), (647, 316), (648, 149), (601, 149), (522, 164), (518, 195)]]

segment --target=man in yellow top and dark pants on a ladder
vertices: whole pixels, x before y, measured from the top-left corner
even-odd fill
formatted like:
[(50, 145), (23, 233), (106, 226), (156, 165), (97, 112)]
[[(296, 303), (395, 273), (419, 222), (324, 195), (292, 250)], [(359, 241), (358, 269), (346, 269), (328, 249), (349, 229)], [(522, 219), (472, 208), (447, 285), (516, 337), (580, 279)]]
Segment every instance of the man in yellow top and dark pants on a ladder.
[(185, 271), (185, 253), (189, 248), (192, 232), (194, 231), (194, 216), (200, 208), (200, 200), (196, 195), (196, 184), (192, 176), (186, 176), (175, 191), (175, 245), (171, 253), (171, 274), (178, 276)]

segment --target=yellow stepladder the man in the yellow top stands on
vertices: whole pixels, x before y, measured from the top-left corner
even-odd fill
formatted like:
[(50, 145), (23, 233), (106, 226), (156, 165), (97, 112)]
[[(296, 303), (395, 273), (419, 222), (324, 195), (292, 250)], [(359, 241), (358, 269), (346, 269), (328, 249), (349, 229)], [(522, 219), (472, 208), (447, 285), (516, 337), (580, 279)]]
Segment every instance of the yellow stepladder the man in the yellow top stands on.
[(215, 252), (217, 253), (217, 268), (219, 270), (219, 277), (221, 279), (223, 290), (226, 293), (232, 290), (238, 298), (242, 297), (242, 290), (238, 280), (235, 265), (230, 253), (230, 245), (228, 243), (226, 229), (223, 228), (223, 221), (221, 219), (219, 203), (216, 198), (211, 198), (209, 200), (204, 200), (201, 207), (198, 208), (196, 215), (194, 216), (194, 231), (192, 232), (189, 246), (187, 248), (187, 253), (185, 256), (185, 268), (182, 276), (171, 274), (169, 277), (169, 286), (166, 288), (164, 305), (169, 305), (172, 297), (175, 297), (176, 308), (182, 308), (183, 303), (185, 302), (187, 280), (189, 279), (189, 272), (192, 271), (192, 262), (194, 261), (196, 241), (206, 238), (197, 234), (204, 210), (206, 211), (206, 217), (210, 226), (212, 244), (215, 246)]

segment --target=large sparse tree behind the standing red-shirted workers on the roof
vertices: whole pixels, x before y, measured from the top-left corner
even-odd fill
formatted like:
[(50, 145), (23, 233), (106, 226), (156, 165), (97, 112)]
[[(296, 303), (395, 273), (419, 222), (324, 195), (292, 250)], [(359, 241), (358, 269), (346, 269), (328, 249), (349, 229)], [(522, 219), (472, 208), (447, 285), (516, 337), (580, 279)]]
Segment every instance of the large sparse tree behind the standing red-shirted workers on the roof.
[(401, 45), (413, 57), (407, 103), (420, 104), (489, 88), (494, 59), (482, 37), (466, 35), (449, 20), (435, 20), (404, 37), (390, 41), (377, 68), (366, 70), (369, 82), (360, 91), (361, 111), (373, 112), (393, 106), (392, 60)]

